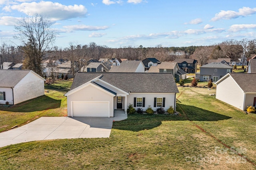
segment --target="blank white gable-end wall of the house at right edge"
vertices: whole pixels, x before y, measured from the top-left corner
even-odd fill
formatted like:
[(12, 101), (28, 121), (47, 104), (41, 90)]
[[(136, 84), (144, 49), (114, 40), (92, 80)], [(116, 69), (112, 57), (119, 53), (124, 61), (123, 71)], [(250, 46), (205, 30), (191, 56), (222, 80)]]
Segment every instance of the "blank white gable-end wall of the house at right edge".
[(217, 84), (216, 99), (244, 110), (244, 92), (230, 76)]

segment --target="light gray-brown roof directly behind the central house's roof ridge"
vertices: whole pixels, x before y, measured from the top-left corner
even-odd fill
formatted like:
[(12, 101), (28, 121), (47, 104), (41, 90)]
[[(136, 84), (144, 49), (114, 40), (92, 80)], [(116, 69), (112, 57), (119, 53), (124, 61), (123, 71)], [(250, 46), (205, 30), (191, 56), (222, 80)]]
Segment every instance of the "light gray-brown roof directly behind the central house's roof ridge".
[(112, 66), (109, 73), (135, 73), (141, 61), (123, 61), (119, 66)]

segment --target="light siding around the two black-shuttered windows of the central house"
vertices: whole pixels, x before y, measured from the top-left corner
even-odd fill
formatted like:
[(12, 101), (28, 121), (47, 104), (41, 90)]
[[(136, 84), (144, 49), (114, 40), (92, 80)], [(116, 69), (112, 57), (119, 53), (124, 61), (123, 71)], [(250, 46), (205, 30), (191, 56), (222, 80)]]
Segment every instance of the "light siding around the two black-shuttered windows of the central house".
[[(134, 97), (145, 97), (145, 107), (140, 107), (143, 111), (146, 111), (149, 106), (156, 111), (158, 107), (154, 107), (154, 97), (165, 97), (165, 107), (163, 107), (165, 111), (169, 109), (170, 106), (175, 108), (175, 93), (130, 93), (130, 95), (127, 96), (127, 108), (129, 104), (133, 105)], [(137, 110), (138, 107), (135, 107), (135, 109)]]

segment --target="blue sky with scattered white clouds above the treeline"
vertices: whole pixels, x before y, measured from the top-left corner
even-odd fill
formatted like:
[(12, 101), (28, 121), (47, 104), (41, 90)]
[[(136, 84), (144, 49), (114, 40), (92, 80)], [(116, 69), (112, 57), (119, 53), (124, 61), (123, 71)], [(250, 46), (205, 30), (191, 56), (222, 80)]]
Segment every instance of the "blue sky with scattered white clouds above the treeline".
[(256, 39), (255, 0), (0, 0), (0, 38), (12, 38), (26, 14), (47, 15), (69, 43), (108, 47), (181, 47)]

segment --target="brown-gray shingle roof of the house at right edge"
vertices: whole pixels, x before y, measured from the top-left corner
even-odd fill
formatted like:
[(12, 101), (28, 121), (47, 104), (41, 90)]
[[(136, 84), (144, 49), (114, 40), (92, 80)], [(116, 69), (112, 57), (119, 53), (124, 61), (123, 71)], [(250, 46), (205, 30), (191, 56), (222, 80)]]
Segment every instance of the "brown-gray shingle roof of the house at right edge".
[(256, 92), (256, 73), (229, 73), (244, 92)]

